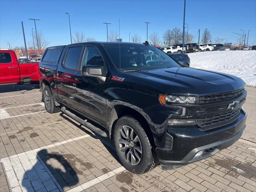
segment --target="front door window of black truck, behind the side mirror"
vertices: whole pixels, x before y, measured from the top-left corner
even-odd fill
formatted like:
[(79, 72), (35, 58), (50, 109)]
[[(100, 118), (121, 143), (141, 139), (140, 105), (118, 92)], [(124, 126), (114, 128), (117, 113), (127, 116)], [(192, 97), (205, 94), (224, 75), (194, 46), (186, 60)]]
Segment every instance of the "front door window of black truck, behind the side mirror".
[(82, 66), (100, 66), (102, 70), (102, 75), (105, 75), (107, 72), (106, 64), (100, 52), (94, 47), (87, 47), (84, 54), (84, 60)]

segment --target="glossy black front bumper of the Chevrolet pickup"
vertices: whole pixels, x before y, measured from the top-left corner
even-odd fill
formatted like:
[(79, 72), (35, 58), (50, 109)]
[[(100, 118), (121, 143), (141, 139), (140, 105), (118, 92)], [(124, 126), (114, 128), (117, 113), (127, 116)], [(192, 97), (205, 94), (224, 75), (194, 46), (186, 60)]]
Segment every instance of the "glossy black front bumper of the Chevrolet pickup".
[(246, 112), (232, 124), (213, 131), (198, 128), (168, 128), (173, 138), (172, 149), (156, 148), (156, 155), (163, 169), (173, 169), (185, 164), (208, 158), (218, 151), (234, 144), (246, 127)]

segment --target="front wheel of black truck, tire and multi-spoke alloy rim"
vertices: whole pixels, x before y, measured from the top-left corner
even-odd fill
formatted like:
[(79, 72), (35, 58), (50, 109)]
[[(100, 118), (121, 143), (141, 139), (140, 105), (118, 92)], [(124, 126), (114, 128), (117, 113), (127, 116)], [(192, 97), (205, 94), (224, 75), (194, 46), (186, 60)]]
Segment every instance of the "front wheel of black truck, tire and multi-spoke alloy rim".
[(131, 116), (123, 116), (114, 129), (118, 158), (130, 172), (143, 174), (156, 166), (153, 148), (141, 124)]

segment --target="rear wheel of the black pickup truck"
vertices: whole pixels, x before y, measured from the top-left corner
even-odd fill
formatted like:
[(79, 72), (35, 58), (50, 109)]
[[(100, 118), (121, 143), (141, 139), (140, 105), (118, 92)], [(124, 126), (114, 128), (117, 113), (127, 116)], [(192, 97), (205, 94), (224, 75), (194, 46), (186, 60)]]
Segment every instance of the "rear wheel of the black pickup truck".
[(44, 107), (48, 113), (58, 113), (60, 112), (60, 106), (55, 106), (51, 89), (48, 85), (44, 87)]

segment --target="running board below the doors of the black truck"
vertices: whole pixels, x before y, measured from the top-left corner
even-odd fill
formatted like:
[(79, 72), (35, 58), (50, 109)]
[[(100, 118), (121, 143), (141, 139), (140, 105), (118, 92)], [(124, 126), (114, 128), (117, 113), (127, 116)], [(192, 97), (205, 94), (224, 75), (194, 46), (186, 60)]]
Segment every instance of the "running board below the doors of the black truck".
[(60, 108), (60, 110), (63, 113), (65, 113), (66, 115), (68, 115), (71, 118), (73, 118), (74, 120), (76, 120), (77, 122), (79, 122), (80, 124), (86, 126), (90, 130), (96, 132), (100, 136), (107, 137), (107, 133), (106, 132), (102, 131), (100, 128), (94, 126), (93, 124), (90, 124), (89, 122), (86, 122), (85, 120), (82, 120), (80, 117), (76, 116), (74, 113), (68, 111), (65, 107)]

